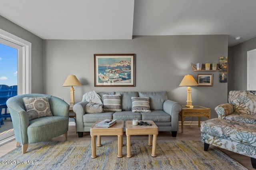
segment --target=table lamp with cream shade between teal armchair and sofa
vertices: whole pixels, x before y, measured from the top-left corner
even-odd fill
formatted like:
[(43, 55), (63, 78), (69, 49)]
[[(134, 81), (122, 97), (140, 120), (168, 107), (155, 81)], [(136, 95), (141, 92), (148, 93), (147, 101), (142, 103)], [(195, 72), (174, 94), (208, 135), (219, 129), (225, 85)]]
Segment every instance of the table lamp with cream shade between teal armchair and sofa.
[(75, 75), (69, 75), (62, 86), (71, 86), (70, 88), (70, 107), (72, 108), (75, 104), (74, 87), (82, 85)]

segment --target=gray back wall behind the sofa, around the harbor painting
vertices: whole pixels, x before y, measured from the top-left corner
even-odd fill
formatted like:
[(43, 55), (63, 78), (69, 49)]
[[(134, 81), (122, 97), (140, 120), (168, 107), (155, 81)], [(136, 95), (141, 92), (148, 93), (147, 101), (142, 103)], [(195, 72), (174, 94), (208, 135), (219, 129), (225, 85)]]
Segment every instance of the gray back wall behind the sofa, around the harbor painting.
[[(94, 53), (135, 53), (136, 87), (94, 87)], [(228, 36), (135, 36), (132, 40), (44, 40), (44, 93), (69, 103), (66, 77), (76, 75), (75, 101), (88, 91), (168, 91), (168, 99), (186, 104), (186, 87), (179, 87), (186, 74), (212, 73), (213, 87), (192, 87), (193, 105), (212, 109), (227, 101), (227, 83), (219, 83), (218, 71), (192, 72), (190, 63), (218, 63), (228, 55)], [(190, 119), (192, 120), (192, 119)], [(197, 121), (197, 118), (193, 119)]]

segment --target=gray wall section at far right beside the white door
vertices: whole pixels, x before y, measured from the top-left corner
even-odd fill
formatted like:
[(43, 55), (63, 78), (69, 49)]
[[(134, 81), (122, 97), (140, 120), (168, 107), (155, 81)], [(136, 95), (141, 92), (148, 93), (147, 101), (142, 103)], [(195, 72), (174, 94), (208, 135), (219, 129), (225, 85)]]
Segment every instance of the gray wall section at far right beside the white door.
[(233, 47), (229, 47), (228, 55), (232, 56), (232, 71), (228, 82), (230, 90), (247, 89), (247, 51), (256, 49), (256, 38), (247, 40)]

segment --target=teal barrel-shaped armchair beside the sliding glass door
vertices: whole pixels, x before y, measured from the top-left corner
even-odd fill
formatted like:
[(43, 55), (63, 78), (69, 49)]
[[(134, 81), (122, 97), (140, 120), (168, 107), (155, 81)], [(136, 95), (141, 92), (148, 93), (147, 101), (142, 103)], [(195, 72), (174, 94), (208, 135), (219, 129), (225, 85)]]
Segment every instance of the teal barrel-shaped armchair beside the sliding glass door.
[[(48, 97), (53, 116), (29, 120), (24, 97)], [(6, 104), (12, 118), (16, 146), (22, 144), (23, 154), (29, 143), (42, 142), (62, 134), (67, 139), (69, 105), (62, 99), (44, 94), (25, 94), (11, 97)]]

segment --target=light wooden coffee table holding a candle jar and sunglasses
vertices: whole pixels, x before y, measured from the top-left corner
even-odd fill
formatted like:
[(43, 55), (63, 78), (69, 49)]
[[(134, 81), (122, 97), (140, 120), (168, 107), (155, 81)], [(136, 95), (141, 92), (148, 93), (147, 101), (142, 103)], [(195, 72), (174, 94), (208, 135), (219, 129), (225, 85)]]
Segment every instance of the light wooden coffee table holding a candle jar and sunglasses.
[[(139, 121), (140, 122), (140, 121)], [(140, 126), (140, 125), (132, 125), (132, 121), (126, 121), (126, 138), (127, 138), (127, 157), (132, 157), (131, 155), (131, 135), (142, 135), (148, 134), (148, 145), (152, 146), (152, 154), (151, 156), (156, 157), (156, 138), (158, 135), (158, 127), (153, 121), (144, 121), (151, 123), (152, 126)], [(153, 135), (153, 142), (152, 142)]]

